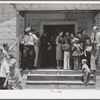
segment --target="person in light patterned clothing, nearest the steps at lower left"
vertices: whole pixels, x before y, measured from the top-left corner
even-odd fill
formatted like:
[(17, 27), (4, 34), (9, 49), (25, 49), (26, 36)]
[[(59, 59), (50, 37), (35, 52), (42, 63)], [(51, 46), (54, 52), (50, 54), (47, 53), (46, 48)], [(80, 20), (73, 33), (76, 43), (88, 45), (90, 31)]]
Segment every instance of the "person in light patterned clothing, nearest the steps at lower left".
[(14, 58), (13, 55), (9, 55), (9, 67), (10, 67), (10, 76), (9, 76), (9, 82), (8, 86), (9, 89), (22, 89), (21, 83), (22, 83), (22, 78), (21, 74), (19, 72), (19, 68), (17, 67), (17, 61)]

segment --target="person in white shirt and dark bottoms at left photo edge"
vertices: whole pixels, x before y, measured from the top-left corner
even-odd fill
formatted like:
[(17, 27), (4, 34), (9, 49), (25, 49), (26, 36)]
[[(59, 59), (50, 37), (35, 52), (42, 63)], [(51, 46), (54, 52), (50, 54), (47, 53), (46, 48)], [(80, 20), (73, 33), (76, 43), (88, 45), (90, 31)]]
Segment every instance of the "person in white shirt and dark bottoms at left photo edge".
[(8, 78), (9, 78), (9, 65), (4, 59), (4, 55), (2, 49), (0, 49), (0, 89), (7, 89), (8, 86)]

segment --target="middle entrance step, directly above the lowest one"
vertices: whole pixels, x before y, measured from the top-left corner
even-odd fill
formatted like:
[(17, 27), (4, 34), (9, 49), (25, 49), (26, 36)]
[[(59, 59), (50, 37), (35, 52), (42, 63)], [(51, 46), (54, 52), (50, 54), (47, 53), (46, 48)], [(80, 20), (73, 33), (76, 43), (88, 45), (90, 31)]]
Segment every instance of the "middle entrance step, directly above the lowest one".
[[(91, 74), (90, 80), (94, 75)], [(27, 81), (75, 81), (82, 80), (82, 74), (27, 74)]]

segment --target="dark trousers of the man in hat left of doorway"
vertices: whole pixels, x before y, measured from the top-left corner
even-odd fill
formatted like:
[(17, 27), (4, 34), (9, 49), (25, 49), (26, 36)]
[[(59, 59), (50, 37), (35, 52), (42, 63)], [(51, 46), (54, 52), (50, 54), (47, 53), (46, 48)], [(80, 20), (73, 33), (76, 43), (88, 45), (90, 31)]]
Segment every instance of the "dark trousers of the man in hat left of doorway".
[(23, 69), (32, 69), (34, 66), (34, 46), (24, 46), (23, 50), (23, 61), (22, 61), (22, 66)]

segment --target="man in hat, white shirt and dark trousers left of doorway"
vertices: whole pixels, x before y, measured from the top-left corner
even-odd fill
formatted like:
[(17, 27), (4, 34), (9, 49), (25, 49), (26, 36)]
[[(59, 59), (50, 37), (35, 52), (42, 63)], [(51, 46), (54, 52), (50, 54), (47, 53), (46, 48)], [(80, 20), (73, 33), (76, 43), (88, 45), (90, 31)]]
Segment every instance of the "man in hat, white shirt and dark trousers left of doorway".
[(32, 69), (34, 68), (34, 40), (35, 36), (32, 35), (32, 28), (28, 27), (25, 29), (26, 35), (23, 38), (24, 50), (23, 50), (23, 61), (22, 67), (23, 69)]

